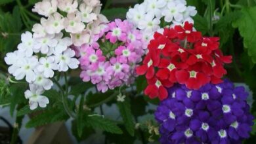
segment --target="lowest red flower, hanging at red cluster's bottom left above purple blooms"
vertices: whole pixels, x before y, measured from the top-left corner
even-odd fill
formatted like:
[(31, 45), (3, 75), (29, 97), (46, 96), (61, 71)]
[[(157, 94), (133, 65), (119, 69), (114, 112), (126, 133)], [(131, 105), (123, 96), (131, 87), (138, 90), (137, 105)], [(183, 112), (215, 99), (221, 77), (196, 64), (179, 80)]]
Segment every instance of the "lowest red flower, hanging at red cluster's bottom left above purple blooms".
[(144, 93), (148, 95), (151, 99), (159, 98), (160, 100), (166, 99), (168, 96), (167, 88), (173, 86), (173, 83), (169, 81), (161, 81), (159, 79), (153, 78), (148, 80), (148, 86), (144, 90)]

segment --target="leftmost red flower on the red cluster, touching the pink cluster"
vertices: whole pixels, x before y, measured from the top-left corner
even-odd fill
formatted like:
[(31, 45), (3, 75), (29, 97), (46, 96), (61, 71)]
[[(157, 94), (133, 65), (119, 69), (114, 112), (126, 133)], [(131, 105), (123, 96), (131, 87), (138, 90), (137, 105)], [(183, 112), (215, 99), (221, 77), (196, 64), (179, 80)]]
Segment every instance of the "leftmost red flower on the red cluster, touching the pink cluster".
[(160, 61), (157, 55), (156, 52), (148, 52), (144, 58), (143, 65), (136, 68), (136, 73), (138, 75), (146, 74), (146, 79), (152, 79), (155, 75), (154, 67), (157, 67)]

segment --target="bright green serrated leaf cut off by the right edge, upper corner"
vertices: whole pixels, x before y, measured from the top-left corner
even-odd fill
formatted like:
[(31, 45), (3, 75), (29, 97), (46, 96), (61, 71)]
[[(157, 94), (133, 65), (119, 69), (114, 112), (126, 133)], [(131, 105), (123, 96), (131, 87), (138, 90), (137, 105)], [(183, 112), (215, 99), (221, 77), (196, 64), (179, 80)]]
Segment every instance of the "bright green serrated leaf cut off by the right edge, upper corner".
[(238, 27), (240, 35), (244, 38), (244, 47), (253, 63), (256, 63), (256, 7), (242, 9), (242, 16), (233, 22), (233, 27)]

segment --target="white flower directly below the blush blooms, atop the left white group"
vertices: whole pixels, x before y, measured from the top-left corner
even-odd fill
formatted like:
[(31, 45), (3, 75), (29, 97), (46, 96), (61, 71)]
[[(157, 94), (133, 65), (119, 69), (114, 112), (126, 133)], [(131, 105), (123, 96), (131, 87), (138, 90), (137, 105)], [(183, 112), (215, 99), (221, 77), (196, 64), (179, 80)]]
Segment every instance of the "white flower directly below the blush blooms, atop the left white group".
[(58, 44), (58, 41), (54, 36), (55, 35), (46, 35), (45, 37), (35, 39), (36, 44), (33, 51), (47, 54), (49, 52), (49, 47), (54, 47)]

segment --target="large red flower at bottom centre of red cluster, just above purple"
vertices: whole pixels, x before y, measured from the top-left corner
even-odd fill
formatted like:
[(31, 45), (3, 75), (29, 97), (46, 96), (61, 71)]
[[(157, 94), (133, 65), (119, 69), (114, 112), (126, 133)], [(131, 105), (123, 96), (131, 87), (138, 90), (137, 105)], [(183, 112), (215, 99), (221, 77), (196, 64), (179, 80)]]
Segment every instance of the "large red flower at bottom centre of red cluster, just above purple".
[(204, 73), (193, 71), (193, 70), (177, 71), (176, 78), (180, 84), (186, 84), (188, 88), (196, 89), (196, 90), (210, 81), (210, 78), (207, 77), (207, 75), (205, 75)]

